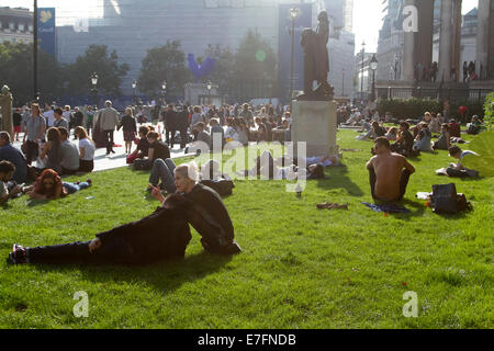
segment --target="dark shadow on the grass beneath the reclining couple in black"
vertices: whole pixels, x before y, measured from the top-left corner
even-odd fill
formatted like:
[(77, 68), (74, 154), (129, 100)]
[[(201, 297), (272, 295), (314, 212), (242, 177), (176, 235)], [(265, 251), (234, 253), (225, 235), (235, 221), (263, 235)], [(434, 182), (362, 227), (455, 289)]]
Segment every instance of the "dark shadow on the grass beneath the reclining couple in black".
[(205, 251), (187, 256), (181, 260), (162, 261), (148, 265), (34, 265), (40, 273), (81, 272), (81, 279), (94, 283), (142, 282), (153, 285), (164, 295), (173, 292), (184, 283), (191, 283), (217, 272), (228, 262), (231, 256), (214, 256)]

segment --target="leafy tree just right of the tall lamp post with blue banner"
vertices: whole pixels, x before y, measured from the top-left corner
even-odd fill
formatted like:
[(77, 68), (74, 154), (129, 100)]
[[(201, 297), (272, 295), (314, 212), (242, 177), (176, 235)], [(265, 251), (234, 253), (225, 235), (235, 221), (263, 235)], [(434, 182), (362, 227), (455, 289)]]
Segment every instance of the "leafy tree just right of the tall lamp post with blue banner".
[(92, 72), (98, 73), (98, 89), (106, 94), (120, 95), (122, 78), (128, 71), (128, 65), (117, 63), (116, 52), (108, 52), (106, 45), (90, 45), (83, 56), (65, 69), (66, 92), (71, 95), (89, 93)]

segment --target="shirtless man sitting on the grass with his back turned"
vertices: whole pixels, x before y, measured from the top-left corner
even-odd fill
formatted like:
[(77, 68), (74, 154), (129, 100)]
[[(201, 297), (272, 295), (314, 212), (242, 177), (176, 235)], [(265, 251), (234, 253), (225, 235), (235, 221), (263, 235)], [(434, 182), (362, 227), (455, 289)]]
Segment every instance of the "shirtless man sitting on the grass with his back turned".
[(415, 168), (400, 154), (391, 152), (385, 137), (374, 140), (375, 156), (367, 162), (372, 197), (379, 201), (400, 201), (405, 195), (409, 176)]

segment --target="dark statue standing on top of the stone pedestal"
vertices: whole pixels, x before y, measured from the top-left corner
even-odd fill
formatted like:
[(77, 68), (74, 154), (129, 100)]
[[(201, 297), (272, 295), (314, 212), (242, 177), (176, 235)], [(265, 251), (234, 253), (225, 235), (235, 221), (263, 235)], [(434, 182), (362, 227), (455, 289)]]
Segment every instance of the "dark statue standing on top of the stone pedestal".
[[(297, 101), (329, 101), (334, 98), (334, 88), (327, 82), (329, 57), (327, 42), (329, 39), (329, 22), (326, 11), (317, 16), (318, 25), (314, 32), (306, 29), (302, 32), (301, 45), (304, 48), (304, 93)], [(318, 86), (312, 89), (314, 80)]]

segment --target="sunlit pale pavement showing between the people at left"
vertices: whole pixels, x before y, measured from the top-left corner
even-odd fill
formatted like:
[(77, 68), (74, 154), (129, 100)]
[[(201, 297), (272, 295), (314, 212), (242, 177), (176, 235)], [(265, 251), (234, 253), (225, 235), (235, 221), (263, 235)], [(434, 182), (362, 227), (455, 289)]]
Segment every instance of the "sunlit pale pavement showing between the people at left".
[[(161, 131), (162, 131), (162, 124), (161, 124)], [(23, 133), (21, 133), (21, 140), (22, 140)], [(120, 145), (119, 147), (113, 147), (115, 150), (115, 154), (110, 154), (106, 156), (106, 149), (98, 148), (94, 151), (94, 170), (93, 172), (98, 171), (104, 171), (109, 169), (115, 169), (120, 167), (127, 167), (126, 163), (126, 155), (125, 155), (125, 141), (123, 139), (123, 132), (122, 129), (120, 132), (114, 132), (114, 144)], [(74, 143), (78, 143), (78, 140), (74, 140), (74, 137), (70, 137), (70, 140)], [(21, 148), (21, 141), (14, 141), (14, 146)], [(134, 151), (136, 148), (136, 145), (132, 145), (132, 151)], [(176, 144), (173, 149), (170, 149), (171, 158), (179, 158), (186, 156), (184, 149), (180, 148), (180, 145)], [(188, 154), (193, 155), (193, 154)], [(34, 166), (35, 162), (33, 162)]]

